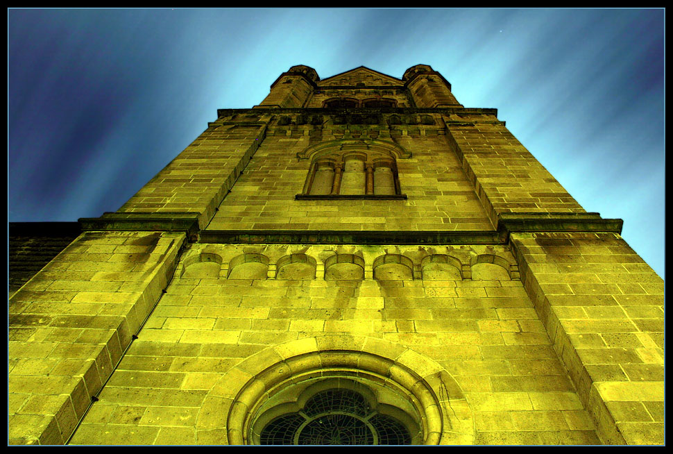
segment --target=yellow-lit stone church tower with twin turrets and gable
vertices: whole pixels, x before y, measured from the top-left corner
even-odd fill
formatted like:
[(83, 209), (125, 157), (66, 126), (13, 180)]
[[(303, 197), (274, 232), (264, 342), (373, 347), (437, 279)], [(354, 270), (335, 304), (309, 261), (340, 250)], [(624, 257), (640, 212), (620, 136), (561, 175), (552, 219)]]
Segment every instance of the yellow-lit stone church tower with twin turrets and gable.
[(299, 65), (9, 302), (10, 444), (663, 444), (664, 283), (428, 65)]

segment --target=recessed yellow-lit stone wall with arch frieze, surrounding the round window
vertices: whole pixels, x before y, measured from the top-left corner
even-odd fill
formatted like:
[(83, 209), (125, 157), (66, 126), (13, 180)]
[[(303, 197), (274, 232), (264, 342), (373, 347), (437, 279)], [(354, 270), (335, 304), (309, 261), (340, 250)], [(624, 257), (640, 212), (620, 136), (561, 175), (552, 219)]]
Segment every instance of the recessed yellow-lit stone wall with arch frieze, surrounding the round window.
[(232, 398), (211, 393), (235, 396), (240, 364), (345, 335), (441, 365), (467, 404), (445, 441), (598, 444), (517, 276), (502, 246), (195, 244), (73, 443), (225, 443)]

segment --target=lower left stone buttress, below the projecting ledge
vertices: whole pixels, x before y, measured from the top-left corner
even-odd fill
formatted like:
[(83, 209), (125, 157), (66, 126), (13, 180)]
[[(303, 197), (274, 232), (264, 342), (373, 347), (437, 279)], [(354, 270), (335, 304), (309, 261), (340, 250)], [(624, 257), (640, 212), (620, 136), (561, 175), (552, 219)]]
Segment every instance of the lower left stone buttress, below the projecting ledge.
[(10, 444), (64, 444), (158, 301), (184, 235), (80, 235), (9, 300)]

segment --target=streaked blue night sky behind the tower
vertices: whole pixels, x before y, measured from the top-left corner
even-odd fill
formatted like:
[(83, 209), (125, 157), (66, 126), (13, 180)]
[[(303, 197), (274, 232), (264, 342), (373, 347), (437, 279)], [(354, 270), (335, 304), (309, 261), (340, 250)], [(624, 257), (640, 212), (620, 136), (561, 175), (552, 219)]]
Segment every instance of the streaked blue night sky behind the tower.
[(8, 218), (116, 211), (293, 65), (431, 65), (664, 277), (664, 10), (8, 10)]

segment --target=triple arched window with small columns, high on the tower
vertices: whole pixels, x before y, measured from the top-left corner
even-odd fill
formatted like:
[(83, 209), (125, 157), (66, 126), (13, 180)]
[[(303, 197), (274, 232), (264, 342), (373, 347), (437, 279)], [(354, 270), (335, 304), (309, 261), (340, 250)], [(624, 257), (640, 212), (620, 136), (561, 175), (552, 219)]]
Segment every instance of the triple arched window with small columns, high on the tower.
[(400, 190), (395, 157), (366, 146), (314, 157), (297, 199), (325, 197), (407, 198)]

